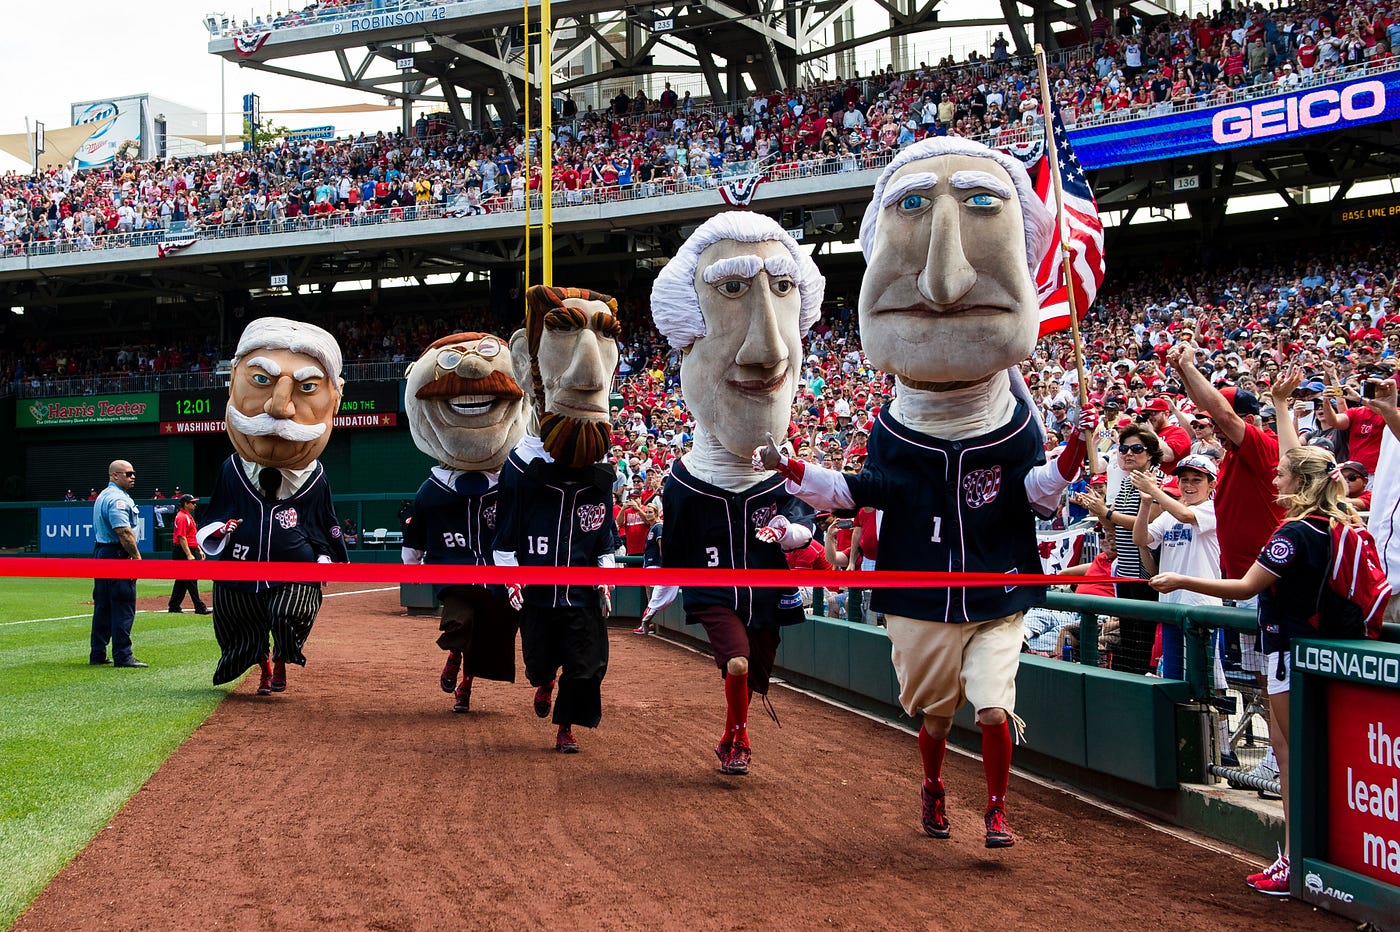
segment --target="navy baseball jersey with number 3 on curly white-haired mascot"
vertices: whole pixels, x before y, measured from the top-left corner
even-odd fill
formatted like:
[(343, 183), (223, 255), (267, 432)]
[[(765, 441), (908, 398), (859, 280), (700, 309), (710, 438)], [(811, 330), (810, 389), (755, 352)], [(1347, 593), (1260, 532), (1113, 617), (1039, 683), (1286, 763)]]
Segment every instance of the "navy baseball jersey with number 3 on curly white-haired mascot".
[[(777, 543), (755, 537), (776, 515), (812, 526), (816, 512), (783, 487), (781, 476), (770, 476), (742, 491), (729, 491), (700, 481), (683, 460), (671, 466), (661, 488), (665, 515), (661, 539), (664, 567), (722, 567), (725, 570), (787, 570), (787, 557)], [(732, 609), (745, 624), (756, 628), (797, 624), (806, 620), (797, 586), (784, 589), (685, 586), (682, 605), (689, 614), (704, 606)]]

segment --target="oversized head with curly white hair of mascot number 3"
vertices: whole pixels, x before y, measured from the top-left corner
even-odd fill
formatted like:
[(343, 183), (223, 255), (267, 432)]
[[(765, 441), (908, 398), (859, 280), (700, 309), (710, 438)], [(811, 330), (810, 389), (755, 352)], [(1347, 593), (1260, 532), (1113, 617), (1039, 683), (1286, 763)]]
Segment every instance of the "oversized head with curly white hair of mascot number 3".
[(651, 290), (657, 329), (683, 353), (680, 390), (697, 428), (748, 458), (784, 437), (802, 369), (802, 336), (826, 280), (763, 214), (734, 210), (701, 224)]

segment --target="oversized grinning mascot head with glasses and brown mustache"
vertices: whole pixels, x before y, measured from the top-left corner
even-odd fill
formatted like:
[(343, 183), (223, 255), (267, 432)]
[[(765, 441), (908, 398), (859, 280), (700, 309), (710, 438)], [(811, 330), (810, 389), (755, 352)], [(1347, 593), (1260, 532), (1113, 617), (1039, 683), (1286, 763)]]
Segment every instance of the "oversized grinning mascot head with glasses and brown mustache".
[(403, 407), (413, 442), (463, 472), (494, 473), (525, 432), (511, 350), (489, 333), (434, 341), (405, 372)]

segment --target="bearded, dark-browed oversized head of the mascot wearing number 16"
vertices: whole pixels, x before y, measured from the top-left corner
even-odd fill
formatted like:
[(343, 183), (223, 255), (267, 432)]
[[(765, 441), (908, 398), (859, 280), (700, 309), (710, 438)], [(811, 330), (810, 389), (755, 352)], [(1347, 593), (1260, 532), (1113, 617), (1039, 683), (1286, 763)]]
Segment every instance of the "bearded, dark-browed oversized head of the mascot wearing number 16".
[(511, 336), (511, 355), (529, 397), (528, 430), (556, 462), (587, 466), (608, 453), (619, 336), (616, 298), (552, 285), (525, 292), (525, 327)]

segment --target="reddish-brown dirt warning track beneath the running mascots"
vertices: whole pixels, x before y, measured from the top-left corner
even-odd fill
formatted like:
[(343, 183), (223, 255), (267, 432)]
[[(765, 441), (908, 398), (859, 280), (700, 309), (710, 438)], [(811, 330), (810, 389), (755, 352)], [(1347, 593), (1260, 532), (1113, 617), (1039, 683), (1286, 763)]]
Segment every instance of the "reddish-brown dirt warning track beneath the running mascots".
[[(337, 585), (332, 591), (356, 586)], [(615, 628), (603, 722), (556, 754), (524, 682), (438, 690), (435, 619), (328, 599), (287, 693), (239, 684), (17, 929), (1343, 929), (1250, 868), (949, 754), (953, 838), (918, 827), (909, 735), (774, 690), (753, 772), (717, 772), (707, 656)]]

